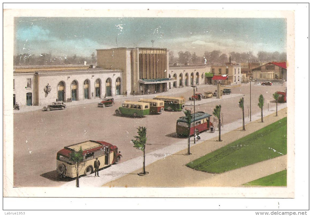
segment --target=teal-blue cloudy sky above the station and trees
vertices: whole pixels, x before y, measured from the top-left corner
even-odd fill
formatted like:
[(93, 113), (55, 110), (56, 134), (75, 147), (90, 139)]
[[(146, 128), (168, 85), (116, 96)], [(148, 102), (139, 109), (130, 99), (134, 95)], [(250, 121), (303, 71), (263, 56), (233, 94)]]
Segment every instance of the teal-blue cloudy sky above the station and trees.
[[(151, 41), (154, 41), (154, 45)], [(284, 18), (15, 17), (14, 55), (90, 56), (115, 47), (286, 52)]]

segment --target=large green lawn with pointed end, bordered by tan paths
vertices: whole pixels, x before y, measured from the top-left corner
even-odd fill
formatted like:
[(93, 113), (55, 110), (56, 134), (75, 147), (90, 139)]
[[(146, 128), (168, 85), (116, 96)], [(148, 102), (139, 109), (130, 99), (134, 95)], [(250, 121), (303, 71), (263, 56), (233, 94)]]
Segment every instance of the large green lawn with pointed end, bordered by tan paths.
[(286, 117), (186, 165), (203, 172), (222, 173), (285, 154)]

